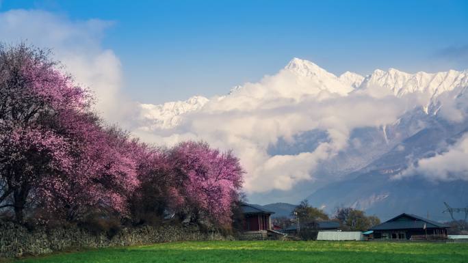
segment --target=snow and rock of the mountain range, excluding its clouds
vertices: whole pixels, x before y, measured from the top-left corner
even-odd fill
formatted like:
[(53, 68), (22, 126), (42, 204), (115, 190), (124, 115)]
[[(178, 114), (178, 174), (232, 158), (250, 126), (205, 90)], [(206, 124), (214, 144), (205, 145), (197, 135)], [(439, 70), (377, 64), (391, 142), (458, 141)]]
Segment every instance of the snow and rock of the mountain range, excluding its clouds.
[[(431, 219), (443, 221), (449, 219), (441, 214), (443, 202), (454, 207), (468, 206), (468, 168), (455, 165), (454, 169), (441, 169), (439, 177), (428, 178), (426, 172), (417, 167), (450, 152), (465, 138), (468, 132), (467, 89), (467, 70), (410, 74), (391, 68), (375, 70), (365, 77), (352, 72), (337, 77), (311, 61), (295, 58), (263, 83), (236, 86), (225, 96), (210, 99), (195, 96), (184, 102), (140, 105), (140, 120), (143, 129), (158, 133), (183, 126), (185, 120), (203, 111), (211, 114), (232, 110), (235, 116), (242, 110), (263, 114), (274, 107), (277, 111), (294, 112), (296, 108), (290, 105), (300, 105), (297, 110), (304, 111), (307, 103), (318, 111), (322, 110), (320, 107), (329, 107), (324, 101), (341, 103), (347, 102), (346, 98), (350, 98), (350, 105), (363, 97), (391, 99), (395, 103), (404, 101), (396, 121), (352, 126), (345, 147), (318, 161), (313, 160), (317, 165), (310, 171), (311, 180), (303, 180), (292, 189), (280, 187), (252, 193), (252, 196), (261, 204), (289, 196), (292, 199), (287, 202), (297, 203), (307, 198), (314, 206), (330, 213), (338, 206), (351, 206), (384, 220), (399, 212), (410, 212), (425, 217), (429, 214)], [(257, 105), (259, 101), (263, 101), (260, 106)], [(272, 103), (277, 101), (281, 103)], [(216, 108), (214, 102), (226, 104)], [(319, 124), (310, 129), (301, 127), (300, 132), (277, 135), (278, 139), (272, 140), (274, 143), (268, 145), (265, 154), (297, 156), (332, 143), (336, 140), (334, 130), (323, 123), (341, 115), (339, 111), (339, 107), (324, 111), (330, 115), (318, 120)], [(386, 109), (374, 106), (369, 111), (382, 113), (382, 116), (386, 113)], [(266, 113), (263, 115), (270, 117)], [(359, 116), (350, 117), (359, 119)], [(281, 124), (282, 120), (277, 122)], [(190, 132), (194, 125), (183, 126), (184, 133)], [(464, 146), (460, 147), (458, 152), (468, 152)], [(247, 171), (246, 176), (249, 174)]]

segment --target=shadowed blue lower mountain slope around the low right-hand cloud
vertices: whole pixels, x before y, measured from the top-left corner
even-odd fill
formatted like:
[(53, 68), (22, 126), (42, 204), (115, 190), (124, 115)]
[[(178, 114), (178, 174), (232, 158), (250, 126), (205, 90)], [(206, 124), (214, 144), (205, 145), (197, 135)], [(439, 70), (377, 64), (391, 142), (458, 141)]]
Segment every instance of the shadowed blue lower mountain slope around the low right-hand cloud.
[[(408, 113), (408, 118), (411, 113)], [(416, 117), (417, 118), (417, 117)], [(424, 120), (426, 119), (426, 120)], [(413, 121), (416, 121), (413, 119)], [(382, 151), (378, 158), (350, 175), (333, 182), (307, 197), (314, 206), (333, 212), (339, 206), (365, 210), (381, 219), (390, 219), (401, 212), (411, 212), (431, 219), (449, 220), (443, 202), (452, 206), (468, 205), (467, 180), (428, 180), (416, 174), (399, 180), (393, 176), (408, 168), (414, 161), (441, 154), (468, 131), (468, 124), (450, 125), (437, 117), (419, 115), (417, 121), (425, 127), (411, 136), (392, 143), (393, 148)], [(399, 124), (404, 126), (404, 124)], [(391, 127), (398, 130), (404, 127)]]

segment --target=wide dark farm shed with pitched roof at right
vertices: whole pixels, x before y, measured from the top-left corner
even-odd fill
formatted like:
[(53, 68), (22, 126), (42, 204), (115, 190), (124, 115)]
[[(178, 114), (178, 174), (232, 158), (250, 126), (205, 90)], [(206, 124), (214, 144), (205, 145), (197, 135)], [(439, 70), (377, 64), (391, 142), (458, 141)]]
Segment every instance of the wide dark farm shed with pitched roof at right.
[(443, 223), (403, 213), (369, 230), (374, 231), (374, 239), (436, 240), (447, 239), (447, 227)]

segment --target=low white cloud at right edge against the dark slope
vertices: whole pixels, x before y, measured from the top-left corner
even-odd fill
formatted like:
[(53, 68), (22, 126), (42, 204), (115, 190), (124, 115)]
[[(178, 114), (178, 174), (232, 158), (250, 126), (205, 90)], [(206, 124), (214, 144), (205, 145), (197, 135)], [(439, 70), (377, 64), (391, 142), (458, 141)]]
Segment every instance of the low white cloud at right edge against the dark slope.
[(402, 171), (394, 179), (408, 176), (424, 176), (430, 180), (468, 180), (468, 133), (461, 137), (447, 152), (430, 158), (422, 158)]

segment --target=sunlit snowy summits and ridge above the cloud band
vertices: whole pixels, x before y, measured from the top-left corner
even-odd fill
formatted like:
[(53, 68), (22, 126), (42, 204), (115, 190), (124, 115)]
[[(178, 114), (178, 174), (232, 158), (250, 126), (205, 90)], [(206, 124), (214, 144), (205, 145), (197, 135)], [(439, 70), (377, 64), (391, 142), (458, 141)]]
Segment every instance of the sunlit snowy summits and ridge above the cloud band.
[[(461, 89), (468, 87), (468, 70), (410, 74), (390, 68), (387, 71), (375, 70), (366, 77), (349, 71), (337, 77), (311, 61), (294, 58), (278, 74), (282, 72), (293, 74), (297, 87), (281, 88), (291, 92), (291, 89), (299, 87), (302, 95), (326, 91), (346, 96), (350, 92), (367, 91), (373, 96), (393, 94), (402, 97), (419, 93), (425, 95), (428, 102), (434, 102), (435, 98), (444, 92), (454, 89), (460, 89), (461, 92)], [(242, 89), (244, 86), (237, 85), (230, 90), (228, 96), (242, 92)], [(281, 96), (281, 92), (278, 95)], [(203, 96), (193, 96), (185, 101), (166, 102), (163, 105), (141, 104), (142, 115), (140, 117), (146, 120), (146, 123), (153, 122), (151, 129), (174, 128), (180, 123), (181, 115), (202, 109), (208, 101), (209, 99)], [(428, 105), (425, 106), (428, 107)]]

